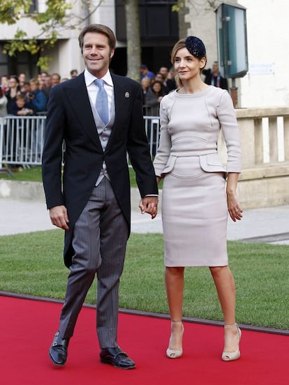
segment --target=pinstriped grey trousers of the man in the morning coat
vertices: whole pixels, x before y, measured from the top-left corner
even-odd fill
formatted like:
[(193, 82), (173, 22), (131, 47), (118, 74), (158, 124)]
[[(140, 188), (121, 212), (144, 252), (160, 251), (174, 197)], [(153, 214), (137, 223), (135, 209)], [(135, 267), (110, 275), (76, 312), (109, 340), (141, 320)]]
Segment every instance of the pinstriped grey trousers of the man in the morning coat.
[(71, 338), (77, 316), (97, 275), (96, 331), (101, 348), (117, 346), (119, 278), (124, 267), (128, 225), (110, 181), (96, 186), (73, 229), (73, 263), (61, 310), (59, 333)]

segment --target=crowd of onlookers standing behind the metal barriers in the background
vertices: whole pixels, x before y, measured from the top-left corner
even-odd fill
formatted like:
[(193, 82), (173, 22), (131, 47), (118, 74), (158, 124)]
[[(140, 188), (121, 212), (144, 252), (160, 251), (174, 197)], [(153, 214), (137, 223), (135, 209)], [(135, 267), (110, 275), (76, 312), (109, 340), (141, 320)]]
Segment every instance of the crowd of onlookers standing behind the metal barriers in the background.
[[(207, 72), (205, 72), (207, 71)], [(212, 70), (204, 70), (205, 82), (214, 86), (228, 89), (227, 80), (218, 72), (218, 62), (213, 63)], [(71, 78), (78, 75), (77, 70), (71, 70)], [(161, 99), (177, 88), (173, 68), (162, 66), (153, 73), (145, 64), (140, 66), (140, 84), (144, 105), (144, 115), (157, 116)], [(61, 78), (59, 73), (51, 75), (45, 71), (38, 77), (27, 80), (25, 73), (19, 75), (2, 75), (0, 90), (0, 119), (8, 115), (39, 115), (45, 114), (50, 90), (60, 82), (66, 82), (67, 77)]]

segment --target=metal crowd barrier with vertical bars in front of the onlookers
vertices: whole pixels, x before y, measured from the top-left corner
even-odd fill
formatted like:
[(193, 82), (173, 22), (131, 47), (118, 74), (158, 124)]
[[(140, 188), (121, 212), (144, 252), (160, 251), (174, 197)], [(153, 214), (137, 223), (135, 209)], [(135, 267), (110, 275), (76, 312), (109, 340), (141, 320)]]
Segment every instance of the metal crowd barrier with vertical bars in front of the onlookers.
[[(0, 123), (0, 168), (41, 165), (45, 116), (4, 116)], [(156, 155), (160, 131), (158, 116), (144, 116), (151, 157)]]

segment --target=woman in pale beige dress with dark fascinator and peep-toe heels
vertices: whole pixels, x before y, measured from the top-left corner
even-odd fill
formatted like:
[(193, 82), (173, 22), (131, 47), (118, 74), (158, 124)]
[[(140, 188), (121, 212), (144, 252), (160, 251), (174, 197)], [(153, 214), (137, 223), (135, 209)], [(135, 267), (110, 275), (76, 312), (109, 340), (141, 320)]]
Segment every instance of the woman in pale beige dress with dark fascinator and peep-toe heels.
[[(165, 287), (171, 318), (166, 354), (179, 358), (183, 353), (184, 268), (208, 266), (224, 317), (221, 358), (232, 361), (240, 356), (241, 331), (235, 323), (235, 282), (226, 235), (228, 213), (233, 221), (242, 218), (236, 192), (241, 172), (237, 119), (229, 93), (202, 82), (207, 61), (202, 40), (179, 40), (171, 61), (179, 88), (161, 100), (161, 137), (154, 159), (157, 181), (163, 179)], [(227, 169), (216, 145), (220, 129), (228, 149)]]

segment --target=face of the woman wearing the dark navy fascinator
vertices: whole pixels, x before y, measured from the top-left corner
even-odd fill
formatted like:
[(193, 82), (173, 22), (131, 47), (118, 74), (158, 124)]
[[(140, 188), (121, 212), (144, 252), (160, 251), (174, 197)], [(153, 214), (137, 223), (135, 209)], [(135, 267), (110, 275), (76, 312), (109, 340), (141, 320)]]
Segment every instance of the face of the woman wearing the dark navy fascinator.
[(182, 82), (191, 80), (194, 77), (200, 77), (200, 69), (204, 68), (205, 64), (205, 57), (198, 59), (184, 47), (176, 53), (174, 60), (175, 73), (179, 75)]

